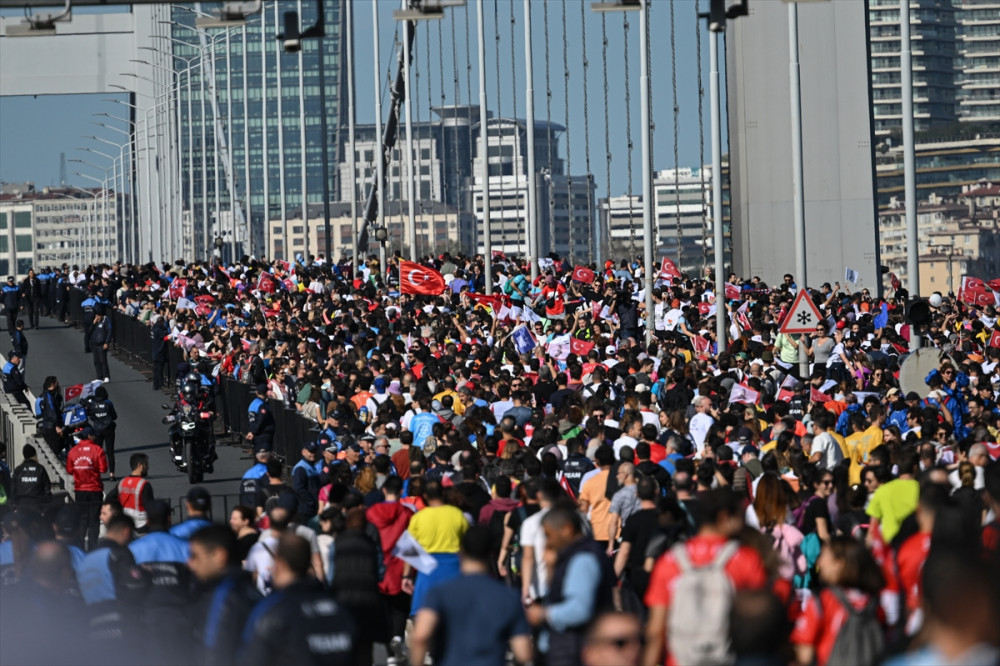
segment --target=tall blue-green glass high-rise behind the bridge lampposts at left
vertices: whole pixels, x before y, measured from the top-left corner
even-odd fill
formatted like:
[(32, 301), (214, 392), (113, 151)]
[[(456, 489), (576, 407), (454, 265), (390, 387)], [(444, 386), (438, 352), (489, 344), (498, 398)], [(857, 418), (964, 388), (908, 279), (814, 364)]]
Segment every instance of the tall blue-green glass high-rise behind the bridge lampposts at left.
[[(275, 37), (284, 30), (285, 12), (299, 12), (302, 29), (313, 25), (315, 3), (268, 2), (245, 26), (205, 31), (195, 27), (194, 6), (174, 5), (168, 46), (181, 86), (179, 143), (185, 179), (180, 196), (192, 215), (192, 228), (207, 229), (206, 237), (217, 228), (227, 232), (223, 212), (232, 209), (228, 183), (251, 221), (254, 247), (267, 247), (267, 220), (287, 221), (304, 200), (322, 203), (320, 66), (325, 76), (330, 195), (336, 196), (340, 127), (346, 124), (347, 106), (344, 3), (324, 4), (325, 37), (302, 40), (298, 53), (285, 53)], [(222, 224), (216, 225), (216, 219)], [(201, 234), (195, 236), (201, 240)], [(196, 245), (196, 253), (204, 251)]]

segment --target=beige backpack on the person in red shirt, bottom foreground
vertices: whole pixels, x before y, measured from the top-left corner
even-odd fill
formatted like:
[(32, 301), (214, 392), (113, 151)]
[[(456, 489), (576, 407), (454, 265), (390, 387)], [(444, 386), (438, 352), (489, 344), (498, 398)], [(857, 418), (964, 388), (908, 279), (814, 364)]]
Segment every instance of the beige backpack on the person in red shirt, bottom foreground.
[(670, 653), (678, 664), (718, 666), (733, 662), (728, 637), (734, 589), (726, 564), (738, 549), (738, 543), (729, 541), (702, 567), (691, 564), (685, 544), (671, 549), (681, 573), (674, 583), (667, 629)]

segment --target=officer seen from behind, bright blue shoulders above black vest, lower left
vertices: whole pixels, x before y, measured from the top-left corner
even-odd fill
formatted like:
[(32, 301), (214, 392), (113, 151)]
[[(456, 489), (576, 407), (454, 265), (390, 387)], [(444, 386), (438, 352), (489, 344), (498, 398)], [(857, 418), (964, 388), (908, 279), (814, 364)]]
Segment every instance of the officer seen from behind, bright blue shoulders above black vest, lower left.
[(164, 663), (190, 663), (188, 608), (195, 595), (187, 565), (188, 544), (167, 531), (168, 502), (151, 501), (146, 505), (146, 518), (149, 534), (130, 543), (129, 550), (150, 579), (149, 593), (142, 602), (146, 636), (151, 641), (148, 647)]

